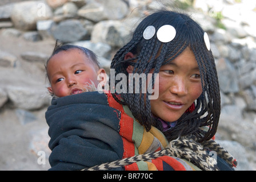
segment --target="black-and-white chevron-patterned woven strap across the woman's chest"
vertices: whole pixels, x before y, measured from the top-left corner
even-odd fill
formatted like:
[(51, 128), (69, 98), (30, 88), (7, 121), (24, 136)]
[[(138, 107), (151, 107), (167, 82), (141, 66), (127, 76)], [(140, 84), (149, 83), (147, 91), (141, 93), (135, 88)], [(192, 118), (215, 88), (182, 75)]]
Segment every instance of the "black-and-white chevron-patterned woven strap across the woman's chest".
[(156, 159), (161, 156), (175, 156), (178, 158), (186, 159), (193, 163), (198, 168), (204, 171), (218, 171), (217, 161), (207, 154), (206, 150), (217, 152), (219, 157), (224, 159), (231, 167), (237, 166), (237, 160), (233, 158), (224, 148), (222, 148), (214, 140), (207, 140), (203, 143), (198, 143), (194, 135), (181, 137), (173, 140), (169, 145), (161, 151), (151, 152), (142, 155), (135, 155), (131, 158), (116, 160), (110, 163), (100, 164), (90, 168), (84, 168), (82, 171), (97, 171), (109, 170), (112, 168), (123, 167), (141, 160), (147, 161)]

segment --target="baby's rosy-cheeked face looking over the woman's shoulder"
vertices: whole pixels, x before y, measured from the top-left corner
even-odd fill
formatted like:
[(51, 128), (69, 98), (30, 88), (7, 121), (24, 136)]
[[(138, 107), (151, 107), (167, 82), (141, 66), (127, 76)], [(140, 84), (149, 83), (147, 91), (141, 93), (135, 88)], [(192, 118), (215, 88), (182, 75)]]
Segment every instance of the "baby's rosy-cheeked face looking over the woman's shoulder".
[(93, 61), (80, 49), (61, 51), (51, 57), (47, 64), (51, 84), (48, 90), (57, 97), (64, 97), (82, 93), (91, 82), (97, 88), (97, 76), (102, 72), (105, 73), (104, 69), (95, 68)]

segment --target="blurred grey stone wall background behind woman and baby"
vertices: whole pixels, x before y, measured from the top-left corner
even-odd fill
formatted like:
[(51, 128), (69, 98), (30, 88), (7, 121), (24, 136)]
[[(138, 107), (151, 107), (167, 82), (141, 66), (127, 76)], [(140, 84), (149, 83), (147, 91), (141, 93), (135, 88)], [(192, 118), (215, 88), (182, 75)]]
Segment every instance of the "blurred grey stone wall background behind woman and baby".
[(210, 37), (221, 86), (217, 141), (256, 170), (256, 1), (0, 1), (0, 170), (47, 170), (50, 105), (45, 63), (55, 40), (93, 50), (109, 70), (143, 17), (184, 11)]

